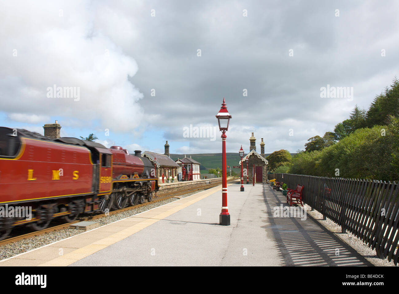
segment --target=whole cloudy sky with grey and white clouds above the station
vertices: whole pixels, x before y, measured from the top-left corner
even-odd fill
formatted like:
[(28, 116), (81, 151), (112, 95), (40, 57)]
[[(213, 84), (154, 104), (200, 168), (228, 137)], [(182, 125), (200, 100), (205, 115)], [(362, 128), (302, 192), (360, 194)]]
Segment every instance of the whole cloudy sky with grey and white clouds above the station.
[[(225, 97), (228, 152), (248, 152), (251, 132), (295, 152), (399, 76), (398, 14), (398, 1), (1, 1), (0, 125), (218, 153)], [(322, 97), (327, 85), (353, 97)]]

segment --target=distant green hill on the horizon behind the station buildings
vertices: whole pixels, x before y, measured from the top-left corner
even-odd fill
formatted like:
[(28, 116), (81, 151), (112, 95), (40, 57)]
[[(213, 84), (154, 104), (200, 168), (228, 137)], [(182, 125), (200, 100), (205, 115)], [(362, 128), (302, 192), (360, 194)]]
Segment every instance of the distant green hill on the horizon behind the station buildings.
[[(271, 153), (267, 153), (266, 156), (269, 156)], [(292, 153), (292, 155), (295, 153)], [(246, 155), (246, 154), (245, 154)], [(244, 157), (245, 157), (244, 155)], [(209, 169), (219, 169), (222, 168), (222, 154), (221, 153), (204, 153), (204, 154), (187, 154), (187, 157), (192, 157), (201, 165), (199, 166), (199, 170), (201, 174), (207, 174)], [(184, 154), (171, 154), (170, 158), (176, 161), (178, 158), (182, 159)], [(241, 173), (241, 169), (233, 169), (233, 166), (238, 166), (240, 161), (240, 156), (237, 153), (226, 153), (226, 164), (231, 167), (232, 172), (236, 172), (237, 174)], [(227, 171), (229, 169), (227, 168)]]

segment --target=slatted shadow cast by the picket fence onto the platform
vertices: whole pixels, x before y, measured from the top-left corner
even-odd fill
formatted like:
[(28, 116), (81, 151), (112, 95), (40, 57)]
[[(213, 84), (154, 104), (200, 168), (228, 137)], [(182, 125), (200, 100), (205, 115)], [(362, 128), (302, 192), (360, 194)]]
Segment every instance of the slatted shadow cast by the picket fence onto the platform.
[(288, 206), (286, 196), (263, 186), (263, 197), (271, 233), (286, 266), (373, 266), (352, 247), (306, 214), (300, 217), (273, 217), (275, 207)]

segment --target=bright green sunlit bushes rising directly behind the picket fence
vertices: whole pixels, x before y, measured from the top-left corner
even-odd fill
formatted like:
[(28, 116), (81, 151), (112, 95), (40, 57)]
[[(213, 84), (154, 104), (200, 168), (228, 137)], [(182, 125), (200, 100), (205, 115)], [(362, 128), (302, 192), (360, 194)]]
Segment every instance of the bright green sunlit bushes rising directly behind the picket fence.
[[(292, 159), (289, 172), (376, 180), (399, 179), (399, 119), (389, 125), (357, 129), (320, 151), (302, 152)], [(338, 170), (339, 169), (339, 174)]]

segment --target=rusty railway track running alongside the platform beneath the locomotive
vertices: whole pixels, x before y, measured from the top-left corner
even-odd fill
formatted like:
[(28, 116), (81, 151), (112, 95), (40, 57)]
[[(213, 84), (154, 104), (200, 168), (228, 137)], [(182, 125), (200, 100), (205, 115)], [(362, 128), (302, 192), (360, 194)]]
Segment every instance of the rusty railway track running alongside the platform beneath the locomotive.
[[(232, 180), (229, 180), (227, 182), (234, 182), (234, 181), (237, 181), (237, 179), (232, 179)], [(4, 239), (4, 240), (0, 241), (0, 246), (6, 245), (6, 244), (9, 244), (9, 243), (12, 243), (12, 242), (20, 241), (22, 239), (26, 239), (26, 238), (30, 238), (30, 237), (34, 237), (34, 236), (38, 236), (38, 235), (43, 235), (45, 233), (49, 233), (49, 232), (53, 232), (53, 231), (57, 231), (57, 230), (61, 230), (61, 229), (66, 229), (66, 228), (69, 228), (70, 225), (72, 225), (74, 223), (78, 223), (80, 221), (91, 221), (91, 220), (96, 220), (98, 218), (103, 218), (105, 216), (112, 216), (113, 214), (118, 214), (118, 213), (124, 212), (126, 210), (136, 209), (136, 208), (139, 208), (139, 207), (142, 207), (142, 206), (146, 206), (148, 204), (156, 203), (156, 202), (159, 202), (159, 201), (162, 201), (162, 200), (166, 200), (166, 199), (169, 199), (169, 198), (176, 198), (178, 196), (185, 195), (185, 194), (188, 194), (188, 193), (193, 192), (193, 191), (207, 190), (207, 189), (219, 186), (219, 185), (220, 184), (207, 184), (207, 185), (200, 186), (200, 187), (197, 187), (197, 188), (191, 188), (191, 189), (184, 189), (184, 190), (178, 190), (178, 191), (169, 192), (169, 193), (163, 194), (162, 196), (159, 196), (159, 198), (156, 197), (158, 199), (154, 199), (151, 202), (145, 202), (143, 204), (137, 204), (137, 205), (134, 205), (134, 206), (128, 206), (126, 208), (113, 210), (113, 211), (110, 211), (107, 215), (105, 215), (105, 214), (97, 214), (97, 215), (94, 215), (94, 216), (91, 215), (91, 216), (87, 216), (87, 217), (84, 217), (84, 218), (79, 218), (79, 220), (76, 220), (76, 221), (72, 221), (72, 222), (69, 222), (69, 223), (63, 223), (61, 225), (56, 225), (54, 227), (49, 227), (47, 229), (43, 229), (43, 230), (40, 230), (40, 231), (34, 231), (34, 232), (22, 234), (22, 235), (17, 235), (17, 236), (14, 236), (14, 237), (8, 237), (7, 239)]]

